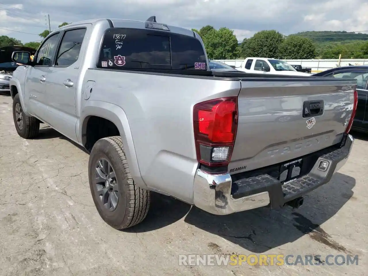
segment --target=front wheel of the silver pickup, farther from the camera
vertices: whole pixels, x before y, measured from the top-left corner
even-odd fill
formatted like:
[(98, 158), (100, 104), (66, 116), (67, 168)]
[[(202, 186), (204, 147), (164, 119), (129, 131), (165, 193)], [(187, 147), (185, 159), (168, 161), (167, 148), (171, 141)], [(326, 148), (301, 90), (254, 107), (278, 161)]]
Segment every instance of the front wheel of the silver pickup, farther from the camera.
[[(13, 119), (15, 129), (20, 137), (32, 139), (38, 135), (40, 131), (40, 121), (33, 116), (24, 114), (19, 94), (16, 94), (13, 99)], [(18, 125), (18, 121), (22, 121), (22, 123)]]

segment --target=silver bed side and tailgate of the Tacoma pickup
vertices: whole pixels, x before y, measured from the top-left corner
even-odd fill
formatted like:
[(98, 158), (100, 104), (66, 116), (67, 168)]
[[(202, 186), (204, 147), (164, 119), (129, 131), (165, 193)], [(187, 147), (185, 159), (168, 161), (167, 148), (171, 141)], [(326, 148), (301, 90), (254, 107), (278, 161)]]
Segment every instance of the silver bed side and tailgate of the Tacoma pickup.
[[(198, 167), (193, 130), (195, 104), (238, 97), (238, 128), (228, 170), (241, 173), (341, 141), (356, 84), (346, 79), (245, 72), (177, 73), (91, 68), (84, 83), (95, 81), (95, 92), (82, 105), (110, 101), (124, 110), (142, 179), (153, 190), (186, 202), (192, 201), (192, 177)], [(311, 129), (306, 124), (309, 118), (302, 117), (303, 102), (309, 100), (322, 100), (326, 106), (320, 116), (315, 116)], [(336, 110), (336, 104), (343, 106)], [(167, 177), (163, 179), (162, 175)], [(173, 179), (181, 181), (177, 185)]]

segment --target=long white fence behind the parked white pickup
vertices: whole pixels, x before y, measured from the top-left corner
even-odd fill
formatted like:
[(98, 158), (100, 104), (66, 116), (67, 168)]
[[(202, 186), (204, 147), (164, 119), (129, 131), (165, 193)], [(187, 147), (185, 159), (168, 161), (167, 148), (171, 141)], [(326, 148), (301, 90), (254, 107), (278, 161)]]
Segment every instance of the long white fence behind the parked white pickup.
[[(231, 60), (217, 60), (228, 65), (240, 67), (243, 63), (242, 59), (231, 59)], [(301, 65), (302, 67), (312, 68), (312, 72), (321, 72), (330, 68), (339, 66), (338, 59), (287, 59), (284, 60), (291, 65)], [(368, 65), (368, 59), (342, 59), (340, 60), (340, 66), (352, 65)]]

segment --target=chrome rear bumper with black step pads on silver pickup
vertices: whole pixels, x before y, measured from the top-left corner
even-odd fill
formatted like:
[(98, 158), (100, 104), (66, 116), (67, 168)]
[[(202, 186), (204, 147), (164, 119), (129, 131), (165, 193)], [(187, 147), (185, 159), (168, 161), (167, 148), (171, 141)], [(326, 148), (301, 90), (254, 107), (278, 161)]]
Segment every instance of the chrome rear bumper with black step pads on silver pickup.
[[(233, 183), (229, 173), (209, 174), (198, 169), (194, 177), (194, 205), (215, 215), (228, 215), (263, 206), (281, 208), (286, 202), (328, 183), (346, 163), (353, 142), (354, 138), (347, 135), (342, 148), (321, 155), (308, 174), (287, 184), (282, 185), (268, 174), (237, 180), (237, 185), (247, 194), (240, 198), (234, 198), (231, 194)], [(321, 161), (328, 162), (327, 170), (317, 168)]]

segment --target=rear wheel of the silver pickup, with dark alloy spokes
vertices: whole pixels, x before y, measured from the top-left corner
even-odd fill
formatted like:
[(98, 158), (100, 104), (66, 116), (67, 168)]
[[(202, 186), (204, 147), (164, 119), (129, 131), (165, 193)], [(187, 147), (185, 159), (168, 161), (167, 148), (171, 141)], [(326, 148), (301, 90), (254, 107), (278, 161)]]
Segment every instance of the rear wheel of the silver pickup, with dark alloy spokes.
[[(103, 160), (110, 163), (113, 169), (112, 172), (116, 176), (114, 188), (111, 188), (111, 184), (107, 186), (106, 181), (102, 181), (104, 178), (99, 178), (101, 182), (99, 184), (96, 183), (98, 182), (96, 181), (98, 179), (96, 178), (98, 170), (100, 174), (103, 174), (103, 171), (105, 172), (105, 180), (108, 178), (106, 174), (109, 174), (106, 171), (106, 164), (100, 166), (98, 164), (99, 160), (102, 160), (102, 163), (105, 162)], [(96, 169), (96, 167), (99, 169)], [(103, 167), (105, 168), (102, 169)], [(89, 155), (88, 175), (93, 202), (100, 216), (107, 224), (115, 229), (122, 230), (132, 227), (145, 219), (150, 205), (150, 191), (141, 189), (134, 183), (120, 136), (102, 138), (93, 145)], [(105, 194), (103, 193), (103, 191), (109, 190), (108, 188), (112, 189), (108, 197), (112, 197), (112, 193), (115, 193), (114, 198), (116, 199), (116, 194), (118, 194), (117, 203), (115, 200), (115, 207), (111, 203), (113, 201), (111, 198), (109, 204), (106, 196), (108, 191)], [(107, 202), (107, 205), (104, 205), (104, 202)]]

